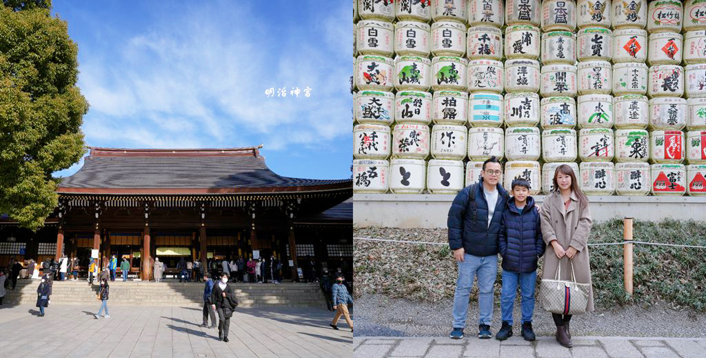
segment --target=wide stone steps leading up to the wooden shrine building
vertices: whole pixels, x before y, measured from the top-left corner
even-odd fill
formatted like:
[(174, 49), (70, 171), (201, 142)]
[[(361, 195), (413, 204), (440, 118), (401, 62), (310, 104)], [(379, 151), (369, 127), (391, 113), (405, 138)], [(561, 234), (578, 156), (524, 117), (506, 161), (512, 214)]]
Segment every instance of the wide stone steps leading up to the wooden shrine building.
[[(18, 280), (16, 290), (7, 290), (5, 304), (37, 302), (39, 280)], [(201, 306), (203, 282), (142, 282), (116, 280), (109, 282), (108, 303), (116, 306)], [(325, 308), (326, 301), (316, 284), (284, 282), (281, 284), (229, 283), (243, 308), (315, 306)], [(95, 305), (100, 287), (90, 287), (85, 280), (54, 281), (52, 304)]]

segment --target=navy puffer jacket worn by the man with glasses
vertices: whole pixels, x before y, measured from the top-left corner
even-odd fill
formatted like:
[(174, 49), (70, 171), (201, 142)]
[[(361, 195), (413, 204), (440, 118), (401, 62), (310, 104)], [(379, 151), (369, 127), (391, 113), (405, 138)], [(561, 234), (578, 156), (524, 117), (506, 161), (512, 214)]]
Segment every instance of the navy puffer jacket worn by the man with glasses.
[[(453, 199), (448, 210), (448, 244), (450, 249), (463, 248), (473, 256), (498, 254), (498, 237), (508, 193), (498, 184), (498, 202), (488, 226), (488, 202), (483, 193), (483, 179), (466, 186)], [(471, 193), (473, 191), (473, 193)], [(469, 200), (473, 198), (473, 201)]]

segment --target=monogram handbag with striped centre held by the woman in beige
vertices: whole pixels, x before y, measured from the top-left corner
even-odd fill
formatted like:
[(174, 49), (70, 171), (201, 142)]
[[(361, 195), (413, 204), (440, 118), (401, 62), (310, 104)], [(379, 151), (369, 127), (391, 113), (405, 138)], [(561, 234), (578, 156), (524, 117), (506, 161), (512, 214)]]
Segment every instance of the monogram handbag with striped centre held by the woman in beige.
[(539, 284), (539, 302), (542, 308), (553, 314), (583, 314), (588, 304), (590, 283), (576, 282), (573, 262), (571, 265), (571, 280), (559, 280), (561, 261), (556, 265), (554, 280), (542, 280)]

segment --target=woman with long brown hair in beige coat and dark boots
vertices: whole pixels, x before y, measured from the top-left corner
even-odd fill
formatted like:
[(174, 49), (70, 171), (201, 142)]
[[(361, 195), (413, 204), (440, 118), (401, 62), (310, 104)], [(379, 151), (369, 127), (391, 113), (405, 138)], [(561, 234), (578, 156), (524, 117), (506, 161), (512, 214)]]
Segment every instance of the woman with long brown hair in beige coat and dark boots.
[[(591, 283), (588, 234), (591, 232), (591, 212), (588, 198), (578, 187), (576, 175), (568, 165), (561, 165), (554, 172), (554, 191), (542, 205), (542, 236), (546, 242), (542, 279), (551, 280), (561, 263), (559, 280), (571, 280), (571, 267), (578, 283)], [(586, 311), (594, 311), (593, 287), (588, 293)], [(551, 314), (556, 324), (556, 340), (564, 347), (571, 347), (569, 321), (571, 315)]]

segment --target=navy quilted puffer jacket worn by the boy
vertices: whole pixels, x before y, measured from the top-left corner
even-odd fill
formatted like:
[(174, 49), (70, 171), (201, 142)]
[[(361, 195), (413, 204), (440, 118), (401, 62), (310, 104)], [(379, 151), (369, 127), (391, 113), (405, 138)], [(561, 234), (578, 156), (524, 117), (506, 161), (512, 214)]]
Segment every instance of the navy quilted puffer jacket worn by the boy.
[(500, 256), (503, 256), (503, 270), (514, 273), (537, 270), (537, 258), (544, 254), (546, 245), (532, 196), (527, 197), (527, 204), (522, 210), (517, 209), (514, 198), (508, 198), (499, 246)]

